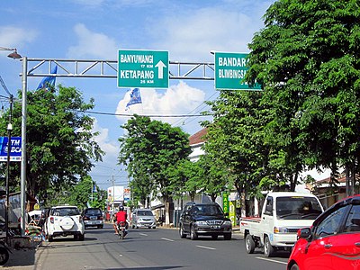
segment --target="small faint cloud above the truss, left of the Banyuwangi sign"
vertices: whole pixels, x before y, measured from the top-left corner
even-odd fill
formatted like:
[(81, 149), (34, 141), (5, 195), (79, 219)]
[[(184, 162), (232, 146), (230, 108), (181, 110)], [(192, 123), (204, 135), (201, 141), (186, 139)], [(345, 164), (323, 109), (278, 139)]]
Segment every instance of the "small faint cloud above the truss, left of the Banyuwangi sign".
[(115, 40), (99, 32), (90, 31), (85, 24), (78, 23), (74, 27), (78, 38), (76, 46), (68, 49), (67, 57), (69, 58), (109, 58), (109, 51), (117, 51), (118, 46)]

